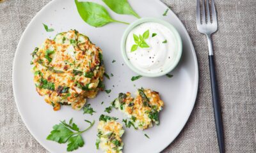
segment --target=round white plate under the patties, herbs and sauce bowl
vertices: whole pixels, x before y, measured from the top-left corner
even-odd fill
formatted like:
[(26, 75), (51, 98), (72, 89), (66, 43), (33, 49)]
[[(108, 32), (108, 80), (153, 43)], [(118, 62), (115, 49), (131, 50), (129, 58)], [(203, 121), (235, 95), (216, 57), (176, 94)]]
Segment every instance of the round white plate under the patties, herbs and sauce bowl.
[[(103, 4), (100, 0), (96, 2)], [(167, 7), (161, 1), (129, 0), (129, 2), (141, 17), (162, 18), (173, 24), (179, 31), (184, 49), (179, 65), (172, 71), (172, 78), (166, 76), (159, 78), (143, 77), (140, 80), (131, 82), (131, 77), (136, 74), (124, 64), (120, 52), (121, 36), (127, 25), (113, 23), (100, 28), (91, 27), (79, 17), (75, 3), (71, 0), (54, 0), (47, 4), (31, 20), (22, 34), (13, 64), (13, 92), (20, 116), (31, 134), (45, 149), (51, 152), (66, 152), (67, 144), (60, 145), (46, 140), (46, 137), (52, 130), (52, 126), (58, 124), (59, 120), (68, 120), (73, 117), (74, 122), (81, 129), (88, 126), (83, 121), (84, 119), (96, 120), (93, 128), (83, 133), (84, 147), (74, 152), (100, 152), (95, 147), (96, 127), (100, 114), (104, 113), (104, 108), (110, 105), (119, 92), (129, 91), (134, 93), (136, 92), (136, 87), (159, 91), (165, 106), (160, 113), (160, 126), (154, 126), (154, 128), (145, 131), (125, 128), (126, 131), (123, 137), (125, 143), (124, 152), (161, 152), (179, 135), (186, 124), (195, 104), (198, 89), (198, 64), (188, 32), (171, 10), (168, 11), (167, 16), (163, 16)], [(109, 12), (113, 18), (119, 20), (126, 22), (136, 20), (132, 16), (117, 15), (111, 10)], [(52, 33), (45, 32), (42, 23), (54, 28), (55, 31)], [(31, 52), (45, 38), (54, 38), (55, 34), (69, 29), (76, 29), (80, 33), (86, 34), (93, 43), (102, 48), (106, 72), (114, 75), (110, 80), (106, 78), (104, 80), (106, 89), (112, 90), (110, 94), (100, 92), (97, 98), (88, 100), (88, 103), (97, 111), (92, 116), (83, 115), (82, 111), (72, 110), (70, 106), (62, 106), (60, 111), (54, 112), (52, 106), (45, 103), (44, 98), (35, 91), (33, 74), (30, 71), (32, 66), (29, 64)], [(113, 59), (116, 60), (115, 63), (112, 63)], [(100, 105), (102, 101), (104, 101), (104, 105)], [(124, 115), (117, 110), (114, 110), (109, 115), (118, 117), (119, 121), (124, 118)], [(150, 139), (146, 138), (144, 133), (147, 133)]]

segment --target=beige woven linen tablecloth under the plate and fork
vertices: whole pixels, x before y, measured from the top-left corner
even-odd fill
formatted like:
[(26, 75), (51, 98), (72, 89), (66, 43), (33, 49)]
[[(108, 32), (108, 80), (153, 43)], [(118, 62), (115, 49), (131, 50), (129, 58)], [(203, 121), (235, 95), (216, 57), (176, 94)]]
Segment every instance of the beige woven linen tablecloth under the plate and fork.
[[(12, 91), (12, 62), (24, 29), (50, 0), (0, 3), (0, 152), (47, 152), (20, 119)], [(71, 0), (70, 0), (71, 1)], [(163, 0), (188, 29), (199, 64), (195, 108), (163, 152), (218, 152), (207, 41), (195, 25), (195, 0)], [(216, 0), (219, 30), (213, 36), (227, 152), (256, 152), (256, 1)]]

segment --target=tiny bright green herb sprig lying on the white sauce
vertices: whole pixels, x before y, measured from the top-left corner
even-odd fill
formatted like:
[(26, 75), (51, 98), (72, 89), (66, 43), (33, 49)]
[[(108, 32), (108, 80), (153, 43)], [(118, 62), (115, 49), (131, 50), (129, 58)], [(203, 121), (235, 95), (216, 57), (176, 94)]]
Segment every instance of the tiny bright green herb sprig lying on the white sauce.
[(148, 48), (149, 46), (145, 41), (147, 40), (148, 36), (149, 36), (149, 30), (145, 31), (145, 33), (143, 33), (142, 36), (141, 34), (139, 36), (137, 36), (136, 34), (133, 34), (133, 39), (136, 44), (132, 45), (131, 52), (134, 52), (135, 50), (137, 50), (138, 47)]

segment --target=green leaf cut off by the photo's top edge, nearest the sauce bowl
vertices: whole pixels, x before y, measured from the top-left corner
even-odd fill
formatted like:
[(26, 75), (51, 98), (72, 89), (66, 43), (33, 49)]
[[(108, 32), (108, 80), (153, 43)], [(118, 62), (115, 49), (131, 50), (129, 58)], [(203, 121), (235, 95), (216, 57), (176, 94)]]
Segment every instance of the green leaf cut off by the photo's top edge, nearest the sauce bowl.
[(127, 2), (127, 0), (102, 0), (108, 7), (115, 11), (118, 14), (126, 14), (126, 15), (134, 15), (137, 18), (140, 16), (132, 10), (131, 5)]

